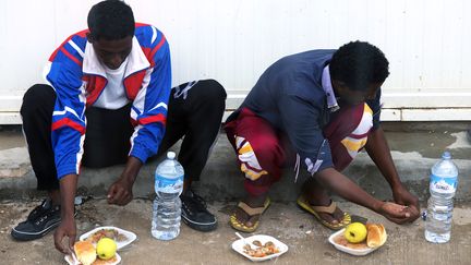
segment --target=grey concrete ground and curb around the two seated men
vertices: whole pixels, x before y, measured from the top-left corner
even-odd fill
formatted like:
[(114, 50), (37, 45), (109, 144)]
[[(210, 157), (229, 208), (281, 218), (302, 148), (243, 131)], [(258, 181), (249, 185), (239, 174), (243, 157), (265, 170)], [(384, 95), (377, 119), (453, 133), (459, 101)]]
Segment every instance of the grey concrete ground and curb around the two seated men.
[[(340, 206), (351, 214), (383, 222), (388, 232), (386, 244), (362, 257), (337, 251), (327, 238), (330, 230), (322, 227), (312, 216), (300, 210), (295, 197), (303, 179), (293, 183), (292, 169), (287, 169), (282, 180), (270, 191), (275, 203), (262, 217), (257, 233), (269, 234), (285, 242), (289, 251), (266, 264), (471, 264), (471, 145), (466, 130), (471, 123), (406, 124), (388, 127), (387, 138), (392, 158), (403, 183), (419, 196), (421, 205), (428, 197), (428, 174), (444, 149), (451, 150), (460, 169), (456, 195), (451, 241), (432, 244), (424, 239), (423, 220), (397, 226), (383, 217), (340, 197)], [(174, 148), (178, 150), (178, 147)], [(138, 240), (120, 254), (122, 264), (249, 264), (250, 261), (231, 250), (237, 240), (228, 225), (228, 213), (243, 194), (242, 180), (234, 164), (234, 154), (225, 135), (220, 134), (202, 181), (194, 188), (217, 214), (216, 231), (201, 233), (182, 225), (179, 238), (162, 242), (152, 238), (150, 206), (153, 172), (158, 160), (149, 161), (141, 171), (134, 185), (134, 200), (125, 207), (110, 206), (104, 195), (119, 176), (122, 166), (104, 169), (84, 168), (80, 178), (78, 194), (86, 202), (78, 206), (77, 230), (86, 232), (96, 226), (112, 225), (131, 230)], [(390, 198), (387, 183), (365, 154), (360, 154), (346, 174), (372, 195)], [(65, 264), (52, 243), (52, 234), (32, 242), (15, 242), (10, 230), (25, 218), (44, 194), (37, 192), (31, 170), (27, 149), (17, 127), (0, 127), (0, 264)]]

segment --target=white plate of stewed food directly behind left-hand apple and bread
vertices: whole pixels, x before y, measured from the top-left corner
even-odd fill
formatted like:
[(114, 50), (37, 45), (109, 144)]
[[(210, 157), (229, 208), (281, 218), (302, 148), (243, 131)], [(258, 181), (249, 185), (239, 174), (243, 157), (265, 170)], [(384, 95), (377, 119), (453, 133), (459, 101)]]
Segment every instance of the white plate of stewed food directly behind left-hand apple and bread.
[(88, 231), (80, 237), (81, 241), (89, 241), (94, 245), (101, 238), (110, 238), (117, 242), (118, 250), (131, 244), (137, 239), (137, 236), (133, 232), (126, 231), (118, 227), (97, 227), (92, 231)]

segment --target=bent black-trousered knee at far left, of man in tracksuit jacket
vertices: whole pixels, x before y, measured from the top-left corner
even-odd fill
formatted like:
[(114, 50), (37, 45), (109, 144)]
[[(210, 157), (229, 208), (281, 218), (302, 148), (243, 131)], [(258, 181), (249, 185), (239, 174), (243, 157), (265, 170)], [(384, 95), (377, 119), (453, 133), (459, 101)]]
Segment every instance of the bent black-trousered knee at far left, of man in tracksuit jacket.
[(22, 117), (35, 115), (41, 106), (47, 103), (53, 105), (55, 101), (56, 94), (52, 87), (44, 84), (36, 84), (24, 94), (20, 113)]

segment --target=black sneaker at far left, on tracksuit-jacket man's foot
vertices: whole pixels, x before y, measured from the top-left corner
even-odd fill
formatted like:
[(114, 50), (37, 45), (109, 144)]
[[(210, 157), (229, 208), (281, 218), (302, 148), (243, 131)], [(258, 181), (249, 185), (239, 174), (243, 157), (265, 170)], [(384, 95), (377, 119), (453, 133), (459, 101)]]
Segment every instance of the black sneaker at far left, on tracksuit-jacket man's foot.
[(60, 206), (53, 206), (47, 198), (29, 213), (25, 221), (12, 229), (11, 236), (20, 241), (39, 239), (59, 226), (60, 219)]

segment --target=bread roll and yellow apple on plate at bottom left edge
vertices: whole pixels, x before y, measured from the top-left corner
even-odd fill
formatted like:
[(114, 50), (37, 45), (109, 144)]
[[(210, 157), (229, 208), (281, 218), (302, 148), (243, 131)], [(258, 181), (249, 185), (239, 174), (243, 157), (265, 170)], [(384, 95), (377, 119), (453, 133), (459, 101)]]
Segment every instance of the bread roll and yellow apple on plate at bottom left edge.
[(73, 252), (64, 257), (70, 265), (116, 265), (121, 262), (117, 243), (109, 238), (100, 239), (96, 246), (89, 241), (76, 241)]

